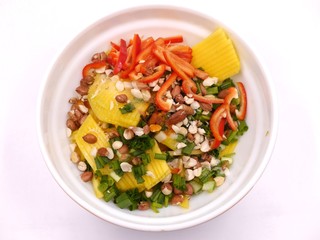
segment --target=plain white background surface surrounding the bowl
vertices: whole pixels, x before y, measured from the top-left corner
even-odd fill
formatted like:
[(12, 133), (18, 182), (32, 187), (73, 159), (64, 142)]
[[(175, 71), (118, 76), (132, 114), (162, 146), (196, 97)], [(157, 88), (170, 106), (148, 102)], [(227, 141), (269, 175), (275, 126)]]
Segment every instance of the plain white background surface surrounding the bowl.
[(280, 122), (263, 176), (223, 215), (180, 231), (134, 231), (79, 207), (55, 182), (39, 150), (39, 86), (58, 52), (81, 30), (107, 14), (151, 2), (0, 0), (0, 239), (320, 239), (320, 1), (152, 3), (219, 19), (265, 62)]

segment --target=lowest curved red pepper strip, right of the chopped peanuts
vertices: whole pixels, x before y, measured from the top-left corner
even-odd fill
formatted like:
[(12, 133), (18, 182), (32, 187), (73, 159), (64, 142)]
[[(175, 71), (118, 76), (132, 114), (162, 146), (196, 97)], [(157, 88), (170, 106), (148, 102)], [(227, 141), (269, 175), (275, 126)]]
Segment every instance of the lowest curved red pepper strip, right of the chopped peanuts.
[(209, 122), (210, 130), (212, 132), (213, 137), (220, 142), (223, 141), (223, 133), (220, 132), (220, 125), (222, 125), (221, 121), (222, 119), (225, 119), (226, 116), (227, 116), (226, 105), (222, 104), (214, 111)]

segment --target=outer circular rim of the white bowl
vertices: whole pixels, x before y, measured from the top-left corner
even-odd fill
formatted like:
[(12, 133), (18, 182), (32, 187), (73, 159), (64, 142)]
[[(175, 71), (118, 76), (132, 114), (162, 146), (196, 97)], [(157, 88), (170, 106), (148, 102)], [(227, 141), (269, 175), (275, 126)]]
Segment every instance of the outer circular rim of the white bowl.
[[(44, 90), (47, 86), (47, 79), (49, 78), (49, 76), (51, 74), (51, 70), (54, 67), (54, 65), (56, 64), (56, 62), (59, 60), (59, 57), (71, 46), (71, 44), (73, 42), (75, 42), (79, 37), (81, 37), (86, 31), (88, 31), (89, 29), (93, 28), (96, 25), (99, 25), (103, 21), (106, 21), (107, 19), (111, 19), (116, 16), (125, 14), (127, 12), (134, 12), (134, 11), (141, 11), (141, 10), (155, 10), (155, 9), (157, 9), (157, 10), (159, 10), (159, 9), (161, 9), (161, 10), (176, 10), (176, 11), (180, 11), (180, 12), (184, 12), (184, 13), (190, 13), (195, 16), (201, 15), (202, 17), (205, 17), (205, 18), (209, 19), (210, 21), (217, 23), (220, 26), (223, 26), (225, 29), (228, 30), (228, 32), (230, 32), (234, 36), (236, 36), (237, 39), (239, 41), (241, 41), (241, 44), (243, 44), (246, 47), (246, 49), (250, 52), (250, 54), (252, 56), (254, 56), (256, 64), (259, 66), (261, 73), (263, 74), (264, 78), (267, 80), (267, 81), (265, 81), (265, 84), (269, 90), (268, 93), (270, 95), (269, 100), (270, 100), (270, 104), (271, 104), (270, 129), (269, 129), (270, 139), (268, 141), (267, 149), (266, 149), (266, 152), (263, 156), (263, 160), (261, 160), (261, 163), (259, 164), (257, 171), (255, 171), (254, 174), (250, 177), (250, 181), (248, 181), (244, 185), (244, 187), (241, 189), (241, 191), (239, 191), (239, 193), (236, 195), (236, 197), (233, 197), (228, 202), (228, 204), (223, 205), (223, 207), (220, 208), (219, 211), (216, 211), (216, 214), (214, 216), (212, 216), (212, 214), (211, 215), (207, 214), (205, 216), (202, 216), (199, 219), (195, 219), (195, 220), (185, 222), (185, 223), (179, 223), (174, 226), (168, 226), (168, 225), (166, 225), (166, 226), (150, 225), (149, 226), (149, 225), (141, 225), (139, 223), (137, 223), (137, 224), (131, 223), (131, 222), (128, 223), (128, 222), (124, 222), (122, 220), (115, 219), (115, 218), (106, 219), (103, 214), (101, 214), (100, 212), (97, 211), (97, 209), (95, 209), (93, 206), (91, 206), (86, 201), (81, 199), (60, 177), (60, 174), (58, 173), (58, 171), (56, 170), (56, 168), (54, 167), (54, 165), (50, 159), (49, 153), (48, 153), (46, 146), (45, 146), (45, 143), (44, 143), (45, 139), (44, 139), (44, 136), (42, 133), (42, 128), (43, 128), (43, 126), (42, 126), (42, 122), (43, 122), (42, 121), (42, 102), (43, 102), (43, 98), (44, 98), (44, 92), (45, 92)], [(102, 18), (92, 22), (91, 24), (86, 26), (84, 29), (82, 29), (78, 34), (76, 34), (74, 37), (72, 37), (72, 39), (70, 41), (67, 41), (67, 44), (62, 45), (61, 49), (59, 51), (57, 51), (56, 56), (54, 56), (52, 58), (52, 62), (49, 65), (48, 70), (45, 74), (45, 80), (43, 80), (41, 82), (41, 86), (40, 86), (40, 90), (39, 90), (39, 94), (38, 94), (38, 99), (37, 99), (37, 112), (36, 112), (37, 122), (36, 122), (36, 125), (37, 125), (38, 142), (39, 142), (40, 150), (41, 150), (41, 153), (42, 153), (43, 158), (45, 160), (46, 166), (49, 169), (49, 172), (51, 173), (51, 175), (53, 176), (55, 181), (58, 183), (58, 185), (62, 188), (62, 190), (71, 199), (73, 199), (76, 203), (78, 203), (78, 205), (80, 205), (82, 208), (86, 209), (87, 211), (94, 214), (95, 216), (97, 216), (105, 221), (108, 221), (109, 223), (113, 223), (115, 225), (130, 228), (130, 229), (142, 230), (142, 231), (171, 231), (171, 230), (179, 230), (179, 229), (184, 229), (184, 228), (196, 226), (198, 224), (209, 221), (209, 220), (221, 215), (225, 211), (229, 210), (236, 203), (238, 203), (241, 199), (243, 199), (250, 192), (250, 190), (255, 186), (257, 181), (261, 178), (268, 163), (270, 162), (272, 152), (273, 152), (275, 144), (276, 144), (276, 139), (277, 139), (277, 134), (278, 134), (278, 121), (279, 121), (278, 118), (279, 117), (278, 117), (278, 103), (277, 103), (276, 88), (274, 86), (273, 81), (271, 80), (272, 78), (270, 77), (270, 73), (268, 72), (268, 70), (266, 69), (265, 66), (266, 66), (266, 64), (263, 62), (261, 56), (259, 55), (259, 52), (256, 49), (254, 49), (253, 44), (248, 44), (248, 41), (245, 41), (238, 33), (236, 33), (232, 28), (227, 26), (225, 23), (222, 23), (221, 21), (219, 21), (216, 18), (213, 18), (209, 15), (205, 15), (199, 11), (195, 11), (190, 8), (178, 7), (178, 6), (173, 6), (173, 5), (150, 4), (150, 5), (145, 5), (145, 6), (125, 8), (120, 11), (116, 11), (112, 14), (103, 16)]]

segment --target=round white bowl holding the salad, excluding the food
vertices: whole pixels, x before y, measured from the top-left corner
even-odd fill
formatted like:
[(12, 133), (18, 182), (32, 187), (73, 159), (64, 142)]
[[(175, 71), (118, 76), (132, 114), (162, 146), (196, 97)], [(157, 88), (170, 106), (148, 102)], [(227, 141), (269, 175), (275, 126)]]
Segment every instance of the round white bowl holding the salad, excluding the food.
[[(193, 45), (215, 28), (223, 27), (240, 55), (242, 70), (233, 79), (244, 82), (248, 94), (249, 131), (241, 138), (234, 163), (225, 184), (213, 193), (202, 193), (190, 201), (189, 209), (168, 207), (152, 211), (121, 210), (113, 203), (97, 199), (89, 183), (69, 160), (66, 136), (68, 99), (81, 79), (81, 69), (95, 52), (134, 33), (145, 36), (182, 34)], [(275, 145), (277, 108), (275, 91), (264, 66), (250, 47), (221, 22), (187, 9), (142, 7), (107, 16), (81, 32), (59, 55), (45, 79), (39, 99), (38, 133), (46, 164), (62, 189), (94, 215), (127, 228), (163, 231), (194, 226), (225, 212), (254, 186), (264, 171)]]

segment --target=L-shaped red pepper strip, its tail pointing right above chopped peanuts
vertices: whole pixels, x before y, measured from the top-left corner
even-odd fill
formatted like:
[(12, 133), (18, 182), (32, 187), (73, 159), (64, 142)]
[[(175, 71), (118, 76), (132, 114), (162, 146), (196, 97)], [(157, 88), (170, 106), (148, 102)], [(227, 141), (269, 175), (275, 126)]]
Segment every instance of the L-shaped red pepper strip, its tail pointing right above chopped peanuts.
[(203, 102), (203, 103), (224, 103), (224, 99), (221, 98), (216, 98), (213, 95), (207, 95), (207, 96), (201, 96), (198, 94), (195, 94), (197, 91), (197, 85), (196, 83), (189, 79), (189, 80), (184, 80), (182, 82), (182, 91), (187, 94), (187, 95), (192, 95), (192, 97), (197, 100), (198, 102)]

